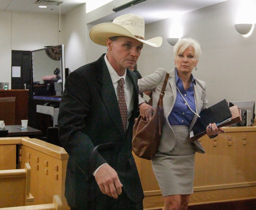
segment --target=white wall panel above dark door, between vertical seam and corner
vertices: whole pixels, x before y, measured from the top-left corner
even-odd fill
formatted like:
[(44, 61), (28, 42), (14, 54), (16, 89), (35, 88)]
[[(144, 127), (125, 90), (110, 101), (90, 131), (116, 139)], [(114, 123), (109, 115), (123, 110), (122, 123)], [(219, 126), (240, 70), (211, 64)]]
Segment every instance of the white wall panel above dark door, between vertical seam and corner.
[(36, 50), (59, 45), (59, 16), (12, 12), (11, 50)]

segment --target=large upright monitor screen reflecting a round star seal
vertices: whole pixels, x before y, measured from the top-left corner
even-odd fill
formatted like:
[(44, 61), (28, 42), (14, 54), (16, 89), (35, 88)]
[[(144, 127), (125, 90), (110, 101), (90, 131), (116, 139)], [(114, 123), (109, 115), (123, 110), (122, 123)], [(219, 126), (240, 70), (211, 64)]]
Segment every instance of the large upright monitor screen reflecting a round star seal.
[(65, 83), (64, 53), (64, 45), (31, 51), (34, 99), (56, 102), (61, 100)]

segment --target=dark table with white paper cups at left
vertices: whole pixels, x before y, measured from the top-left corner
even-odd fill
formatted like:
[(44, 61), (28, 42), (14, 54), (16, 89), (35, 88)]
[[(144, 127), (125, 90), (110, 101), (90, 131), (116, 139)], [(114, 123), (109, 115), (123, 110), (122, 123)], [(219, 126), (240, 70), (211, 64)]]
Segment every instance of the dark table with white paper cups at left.
[(8, 130), (8, 137), (28, 136), (30, 138), (38, 138), (42, 135), (41, 130), (37, 130), (29, 126), (27, 126), (25, 129), (19, 129), (17, 127), (21, 127), (21, 125), (5, 126), (5, 129)]

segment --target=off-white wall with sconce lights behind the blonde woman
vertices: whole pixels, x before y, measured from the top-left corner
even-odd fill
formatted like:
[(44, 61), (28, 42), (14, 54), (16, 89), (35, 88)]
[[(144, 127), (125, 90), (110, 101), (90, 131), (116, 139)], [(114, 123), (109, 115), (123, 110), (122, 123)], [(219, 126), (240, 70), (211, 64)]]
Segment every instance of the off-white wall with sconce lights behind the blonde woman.
[[(183, 17), (184, 36), (200, 42), (202, 56), (193, 75), (206, 82), (208, 102), (256, 99), (256, 30), (243, 37), (234, 28), (233, 9), (236, 1), (226, 1), (187, 13)], [(146, 38), (163, 37), (159, 49), (144, 46), (138, 61), (142, 76), (163, 67), (173, 68), (173, 47), (166, 41), (168, 19), (146, 26)], [(148, 33), (150, 32), (150, 33)]]

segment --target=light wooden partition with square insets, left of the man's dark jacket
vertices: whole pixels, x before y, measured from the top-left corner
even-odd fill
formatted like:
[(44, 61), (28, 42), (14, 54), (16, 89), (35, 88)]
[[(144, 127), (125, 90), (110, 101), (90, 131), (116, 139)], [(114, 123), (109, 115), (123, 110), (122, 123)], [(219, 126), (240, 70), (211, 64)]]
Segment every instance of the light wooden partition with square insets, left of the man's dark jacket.
[(23, 139), (19, 146), (19, 168), (26, 162), (31, 165), (30, 192), (35, 204), (50, 203), (52, 196), (58, 195), (63, 209), (70, 209), (64, 196), (68, 162), (64, 148), (36, 138)]

